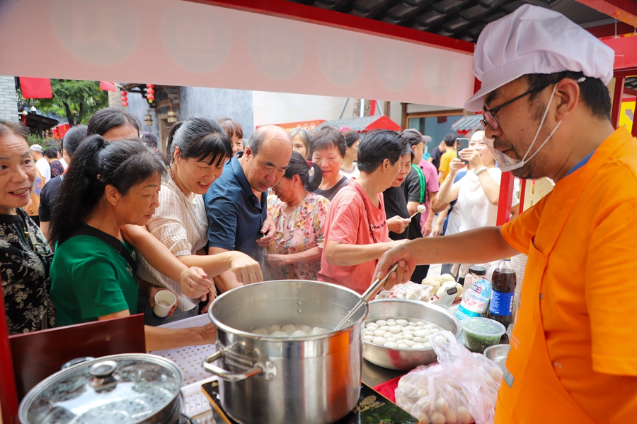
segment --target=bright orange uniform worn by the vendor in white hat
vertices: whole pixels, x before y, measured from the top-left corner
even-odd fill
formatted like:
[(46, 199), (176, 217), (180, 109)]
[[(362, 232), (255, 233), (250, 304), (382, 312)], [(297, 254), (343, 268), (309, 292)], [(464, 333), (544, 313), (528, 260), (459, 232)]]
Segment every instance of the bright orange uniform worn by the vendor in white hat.
[(495, 423), (637, 423), (637, 139), (502, 228), (527, 254)]

